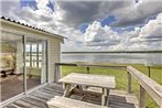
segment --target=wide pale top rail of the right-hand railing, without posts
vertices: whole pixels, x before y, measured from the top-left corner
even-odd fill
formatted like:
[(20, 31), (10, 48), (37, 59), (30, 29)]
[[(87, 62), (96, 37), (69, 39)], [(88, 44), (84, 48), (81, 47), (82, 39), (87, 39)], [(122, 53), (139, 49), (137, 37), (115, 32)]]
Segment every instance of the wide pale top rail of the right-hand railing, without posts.
[(139, 82), (156, 104), (162, 107), (162, 86), (132, 66), (128, 66), (127, 71)]

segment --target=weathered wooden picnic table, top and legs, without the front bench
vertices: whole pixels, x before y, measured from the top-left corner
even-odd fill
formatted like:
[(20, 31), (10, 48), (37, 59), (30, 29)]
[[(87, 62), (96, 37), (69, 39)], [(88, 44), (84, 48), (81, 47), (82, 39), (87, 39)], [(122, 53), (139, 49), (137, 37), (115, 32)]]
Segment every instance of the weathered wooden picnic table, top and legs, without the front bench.
[[(69, 97), (75, 87), (83, 86), (101, 88), (101, 105), (108, 106), (109, 90), (116, 87), (115, 76), (72, 73), (58, 80), (64, 85), (64, 97)], [(75, 87), (73, 87), (75, 86)]]

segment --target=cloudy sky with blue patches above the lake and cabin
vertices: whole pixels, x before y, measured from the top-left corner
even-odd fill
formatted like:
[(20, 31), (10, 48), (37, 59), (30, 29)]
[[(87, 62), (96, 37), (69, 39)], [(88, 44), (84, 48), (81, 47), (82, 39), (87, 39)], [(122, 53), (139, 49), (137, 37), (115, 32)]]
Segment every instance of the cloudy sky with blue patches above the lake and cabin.
[(63, 52), (162, 51), (162, 0), (0, 0), (0, 15), (67, 37)]

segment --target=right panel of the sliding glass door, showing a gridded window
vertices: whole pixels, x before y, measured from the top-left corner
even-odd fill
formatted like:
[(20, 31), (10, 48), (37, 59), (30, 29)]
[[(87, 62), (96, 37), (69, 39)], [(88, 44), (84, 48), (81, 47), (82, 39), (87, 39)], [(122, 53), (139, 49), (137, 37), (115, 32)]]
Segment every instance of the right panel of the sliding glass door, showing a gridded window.
[(46, 82), (45, 41), (26, 36), (26, 89)]

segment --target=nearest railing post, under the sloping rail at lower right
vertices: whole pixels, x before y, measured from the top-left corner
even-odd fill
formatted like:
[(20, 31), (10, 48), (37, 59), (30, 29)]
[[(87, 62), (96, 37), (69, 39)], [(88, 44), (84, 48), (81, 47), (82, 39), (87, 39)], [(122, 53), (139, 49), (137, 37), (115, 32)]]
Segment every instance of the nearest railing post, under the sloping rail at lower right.
[(139, 98), (139, 108), (145, 108), (145, 90), (144, 88), (140, 85), (140, 98)]

